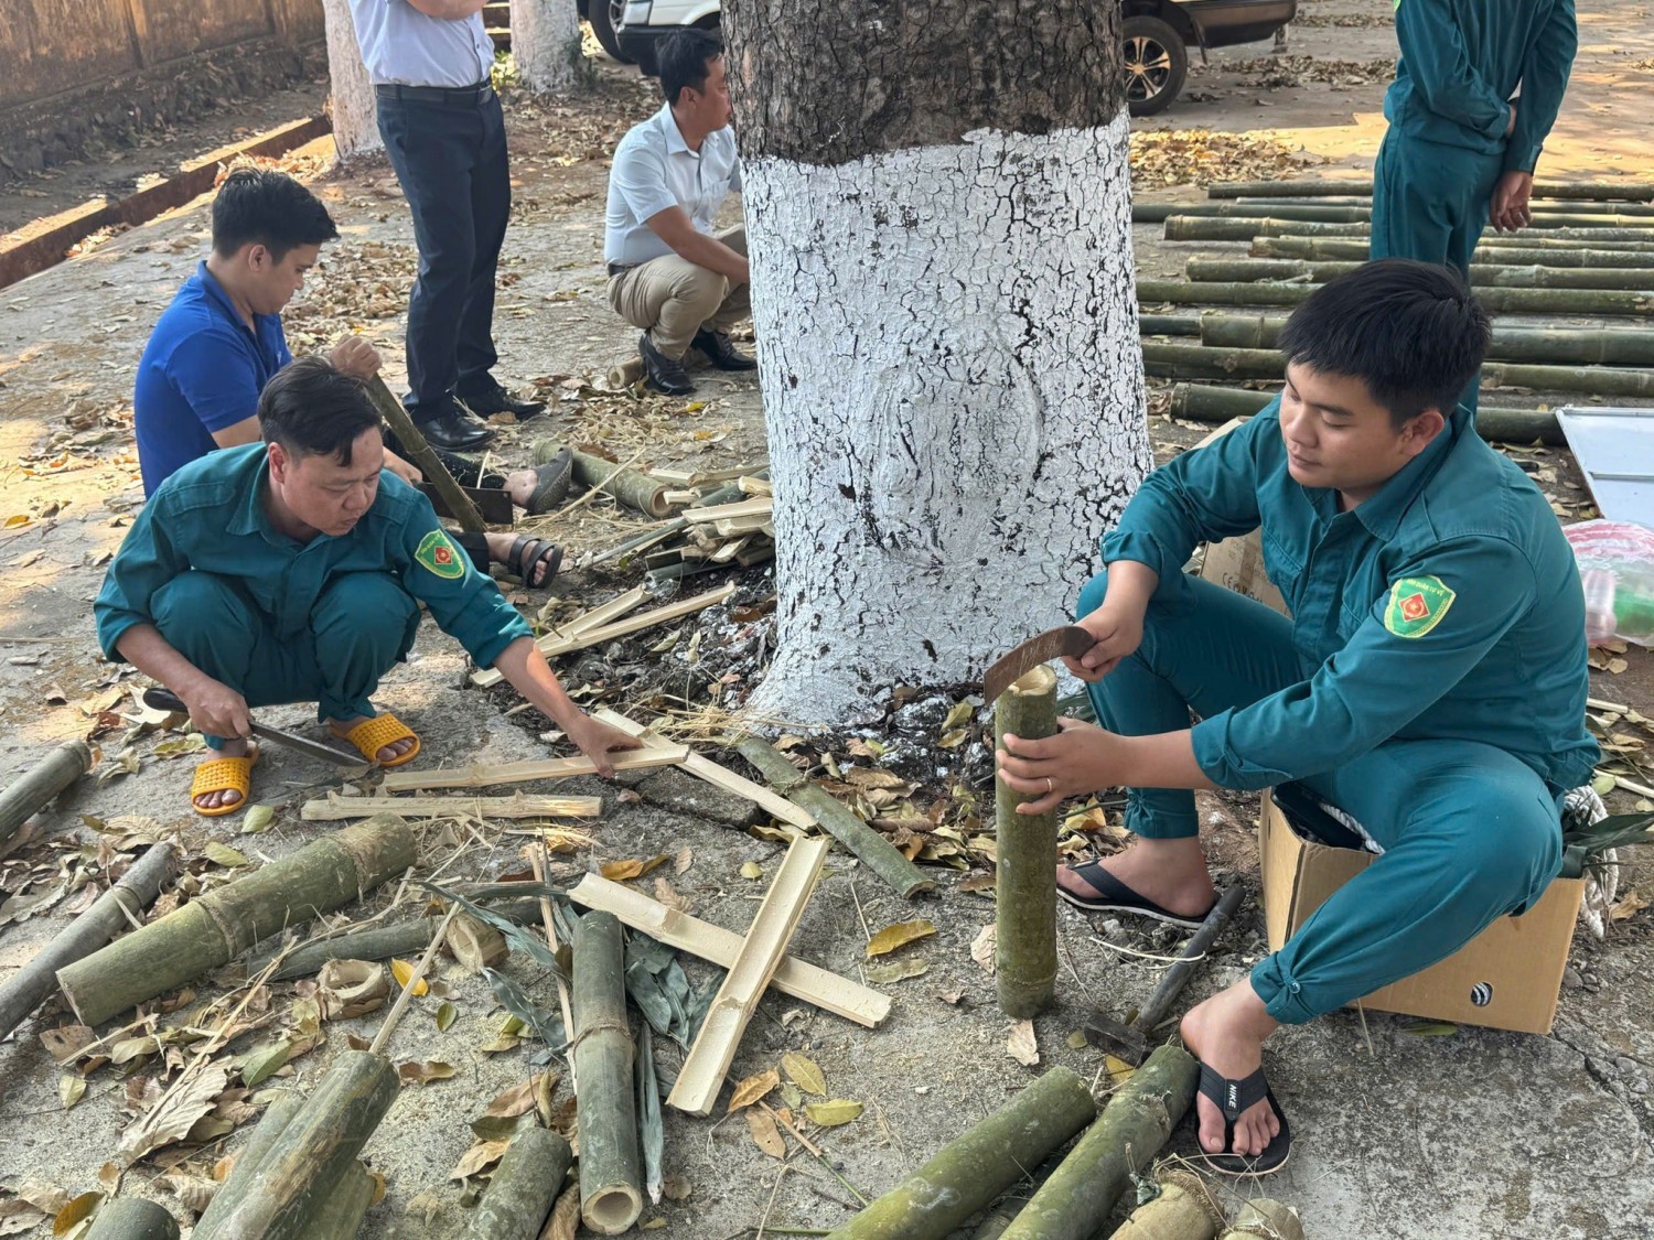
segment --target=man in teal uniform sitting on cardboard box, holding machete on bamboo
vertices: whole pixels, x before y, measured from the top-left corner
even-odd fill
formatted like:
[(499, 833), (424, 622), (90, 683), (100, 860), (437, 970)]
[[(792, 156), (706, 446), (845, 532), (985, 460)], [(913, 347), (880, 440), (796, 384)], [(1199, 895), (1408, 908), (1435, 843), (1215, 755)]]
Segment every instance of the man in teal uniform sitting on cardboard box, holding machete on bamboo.
[[(1545, 496), (1454, 405), (1489, 332), (1442, 266), (1384, 260), (1317, 289), (1282, 332), (1280, 398), (1150, 475), (1103, 541), (1078, 603), (1097, 645), (1070, 661), (1103, 726), (1007, 736), (999, 754), (1024, 812), (1131, 785), (1133, 847), (1059, 871), (1087, 909), (1204, 918), (1191, 789), (1293, 785), (1282, 794), (1343, 810), (1383, 850), (1184, 1017), (1201, 1149), (1221, 1171), (1285, 1161), (1262, 1073), (1277, 1025), (1538, 899), (1561, 865), (1561, 797), (1598, 757), (1573, 554)], [(1183, 572), (1197, 544), (1259, 526), (1292, 618)]]

